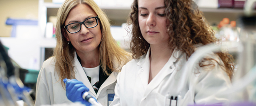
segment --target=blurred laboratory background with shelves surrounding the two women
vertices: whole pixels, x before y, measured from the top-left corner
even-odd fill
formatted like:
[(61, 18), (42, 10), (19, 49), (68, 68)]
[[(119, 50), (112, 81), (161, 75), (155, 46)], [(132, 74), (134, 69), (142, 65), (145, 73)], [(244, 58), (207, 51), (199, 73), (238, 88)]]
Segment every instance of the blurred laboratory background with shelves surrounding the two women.
[[(129, 52), (130, 33), (127, 29), (130, 26), (126, 20), (133, 0), (94, 1), (110, 19), (111, 33), (117, 44)], [(240, 106), (255, 106), (256, 0), (249, 0), (250, 3), (247, 0), (195, 1), (215, 37), (222, 41), (217, 46), (206, 45), (210, 49), (197, 55), (209, 51), (226, 51), (233, 55), (236, 63), (232, 80), (234, 89), (227, 90), (226, 95), (239, 92), (237, 95), (243, 99), (234, 99), (238, 101), (234, 102), (241, 103)], [(0, 0), (0, 42), (3, 47), (0, 55), (1, 106), (34, 105), (37, 75), (56, 46), (56, 14), (62, 2), (64, 0)], [(192, 56), (197, 58), (197, 55)], [(8, 73), (10, 64), (6, 63), (7, 57), (7, 61), (13, 64), (13, 73)]]

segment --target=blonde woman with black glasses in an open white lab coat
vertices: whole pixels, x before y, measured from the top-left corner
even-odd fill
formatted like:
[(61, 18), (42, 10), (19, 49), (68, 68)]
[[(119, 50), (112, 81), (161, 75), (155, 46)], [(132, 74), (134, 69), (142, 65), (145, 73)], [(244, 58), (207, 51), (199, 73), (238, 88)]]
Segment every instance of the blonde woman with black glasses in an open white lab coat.
[[(87, 90), (107, 106), (129, 54), (117, 45), (107, 16), (93, 0), (66, 0), (57, 17), (57, 44), (39, 72), (35, 106), (85, 102), (73, 92), (66, 93), (70, 89)], [(70, 86), (64, 84), (65, 78), (73, 79), (67, 82)]]

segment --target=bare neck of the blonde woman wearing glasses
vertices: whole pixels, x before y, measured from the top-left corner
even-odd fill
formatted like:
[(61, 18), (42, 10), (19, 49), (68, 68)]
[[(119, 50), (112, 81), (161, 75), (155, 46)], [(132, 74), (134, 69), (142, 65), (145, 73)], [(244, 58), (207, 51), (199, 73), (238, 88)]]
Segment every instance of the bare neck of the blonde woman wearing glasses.
[(86, 68), (93, 68), (93, 67), (97, 67), (98, 65), (100, 65), (99, 62), (99, 51), (92, 51), (89, 53), (84, 53), (84, 52), (77, 52), (77, 55), (80, 57), (81, 59), (81, 65), (82, 67), (86, 67)]

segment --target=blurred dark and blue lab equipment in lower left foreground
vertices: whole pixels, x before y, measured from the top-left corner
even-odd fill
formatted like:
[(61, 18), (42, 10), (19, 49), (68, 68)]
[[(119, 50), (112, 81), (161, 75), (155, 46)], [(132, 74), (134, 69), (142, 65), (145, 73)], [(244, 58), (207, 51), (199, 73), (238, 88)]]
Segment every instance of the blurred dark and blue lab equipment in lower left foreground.
[(32, 98), (19, 79), (19, 69), (13, 66), (2, 43), (0, 43), (0, 103), (1, 106), (18, 106), (19, 98), (27, 106), (33, 106)]

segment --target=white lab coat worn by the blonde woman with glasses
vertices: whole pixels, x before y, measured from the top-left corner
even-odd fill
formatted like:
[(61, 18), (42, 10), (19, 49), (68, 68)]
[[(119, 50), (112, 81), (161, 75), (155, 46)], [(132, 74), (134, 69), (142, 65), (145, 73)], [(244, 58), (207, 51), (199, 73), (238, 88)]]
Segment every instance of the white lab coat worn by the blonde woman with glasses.
[[(121, 66), (109, 75), (107, 80), (105, 80), (105, 82), (100, 86), (97, 94), (94, 92), (94, 89), (92, 88), (83, 67), (79, 63), (77, 55), (74, 57), (73, 66), (75, 78), (78, 81), (83, 82), (83, 84), (90, 89), (89, 93), (94, 96), (98, 102), (104, 106), (107, 106), (107, 90), (113, 90), (115, 88), (117, 74), (119, 73), (118, 70), (121, 69)], [(66, 97), (66, 90), (64, 90), (61, 84), (62, 81), (58, 81), (59, 76), (56, 71), (54, 71), (54, 67), (55, 62), (53, 57), (47, 59), (43, 63), (36, 82), (35, 106), (40, 106), (43, 104), (64, 104), (71, 102)], [(116, 66), (114, 65), (114, 67)]]

